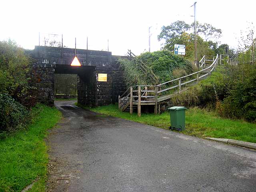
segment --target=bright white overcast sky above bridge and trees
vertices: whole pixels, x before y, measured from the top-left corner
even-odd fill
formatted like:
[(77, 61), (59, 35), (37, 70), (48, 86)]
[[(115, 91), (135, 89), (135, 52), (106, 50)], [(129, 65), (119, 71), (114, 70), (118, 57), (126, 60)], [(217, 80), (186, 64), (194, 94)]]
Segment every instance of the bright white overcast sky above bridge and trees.
[[(163, 25), (176, 20), (194, 21), (194, 0), (1, 0), (0, 40), (11, 38), (34, 49), (44, 34), (63, 34), (64, 45), (107, 50), (124, 55), (148, 50), (148, 27), (153, 26), (151, 51), (160, 50), (157, 36)], [(222, 43), (236, 47), (236, 37), (248, 22), (256, 24), (254, 0), (197, 0), (200, 23), (222, 29)], [(41, 44), (43, 44), (41, 42)]]

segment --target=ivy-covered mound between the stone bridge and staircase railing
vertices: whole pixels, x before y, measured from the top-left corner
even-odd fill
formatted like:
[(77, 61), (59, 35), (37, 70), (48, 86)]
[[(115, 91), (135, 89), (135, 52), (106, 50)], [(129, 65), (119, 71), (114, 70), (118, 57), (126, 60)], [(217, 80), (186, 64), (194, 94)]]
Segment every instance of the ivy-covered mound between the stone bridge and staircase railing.
[(158, 76), (160, 83), (192, 73), (192, 64), (188, 60), (167, 50), (146, 52), (132, 61), (120, 59), (119, 62), (124, 70), (127, 86), (155, 83), (147, 73), (140, 69), (142, 62)]

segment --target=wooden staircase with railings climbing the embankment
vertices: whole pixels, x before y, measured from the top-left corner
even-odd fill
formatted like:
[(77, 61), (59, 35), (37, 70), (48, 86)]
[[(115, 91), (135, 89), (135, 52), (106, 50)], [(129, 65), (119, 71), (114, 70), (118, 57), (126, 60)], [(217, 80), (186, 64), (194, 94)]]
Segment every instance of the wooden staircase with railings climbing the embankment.
[[(137, 108), (138, 116), (141, 115), (142, 105), (153, 105), (154, 113), (160, 113), (160, 104), (170, 100), (176, 94), (180, 94), (190, 86), (198, 82), (216, 69), (219, 56), (203, 56), (199, 62), (200, 70), (192, 74), (157, 85), (131, 86), (118, 98), (118, 108), (121, 111), (130, 111), (130, 114)], [(132, 98), (132, 99), (131, 99)]]

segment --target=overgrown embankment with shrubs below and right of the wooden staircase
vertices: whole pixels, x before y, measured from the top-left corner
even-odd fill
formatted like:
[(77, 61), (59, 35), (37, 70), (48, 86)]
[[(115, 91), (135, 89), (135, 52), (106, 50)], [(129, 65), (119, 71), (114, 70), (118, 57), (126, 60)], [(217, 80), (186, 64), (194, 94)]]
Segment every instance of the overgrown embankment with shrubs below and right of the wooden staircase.
[(206, 80), (172, 98), (177, 106), (216, 110), (224, 118), (256, 122), (256, 70), (252, 65), (218, 66)]

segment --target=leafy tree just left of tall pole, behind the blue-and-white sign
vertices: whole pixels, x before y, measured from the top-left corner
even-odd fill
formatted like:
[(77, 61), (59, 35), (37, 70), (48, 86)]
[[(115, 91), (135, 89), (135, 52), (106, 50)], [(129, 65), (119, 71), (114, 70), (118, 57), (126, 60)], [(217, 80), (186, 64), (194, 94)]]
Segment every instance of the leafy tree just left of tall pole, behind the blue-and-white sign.
[(158, 35), (158, 41), (165, 40), (164, 48), (173, 51), (174, 44), (178, 44), (180, 36), (190, 29), (190, 25), (184, 21), (176, 21), (169, 26), (162, 26), (162, 31)]

